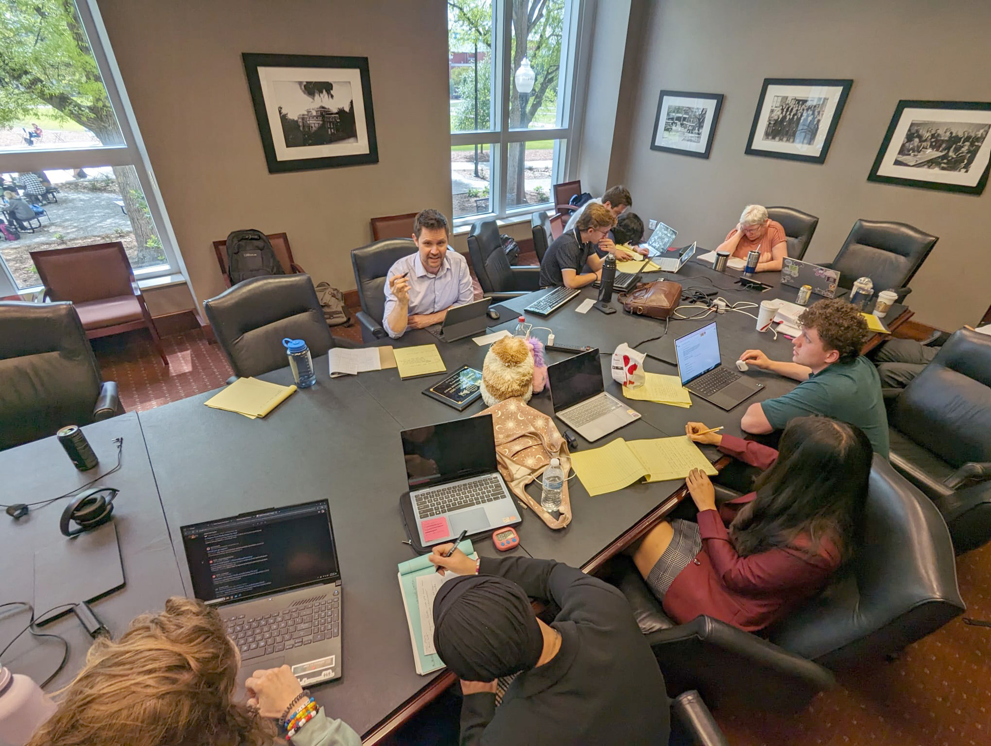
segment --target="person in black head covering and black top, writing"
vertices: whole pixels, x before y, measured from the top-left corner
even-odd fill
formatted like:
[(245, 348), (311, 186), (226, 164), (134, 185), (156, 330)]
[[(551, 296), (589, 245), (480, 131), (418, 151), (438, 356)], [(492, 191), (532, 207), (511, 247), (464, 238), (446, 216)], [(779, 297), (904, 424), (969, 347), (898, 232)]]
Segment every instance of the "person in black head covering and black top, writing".
[[(669, 702), (616, 588), (553, 560), (483, 557), (452, 544), (430, 562), (462, 578), (434, 598), (434, 647), (461, 678), (461, 744), (666, 744)], [(529, 597), (560, 608), (551, 624)], [(516, 675), (495, 707), (496, 680)]]

